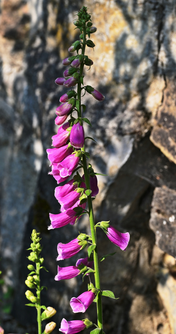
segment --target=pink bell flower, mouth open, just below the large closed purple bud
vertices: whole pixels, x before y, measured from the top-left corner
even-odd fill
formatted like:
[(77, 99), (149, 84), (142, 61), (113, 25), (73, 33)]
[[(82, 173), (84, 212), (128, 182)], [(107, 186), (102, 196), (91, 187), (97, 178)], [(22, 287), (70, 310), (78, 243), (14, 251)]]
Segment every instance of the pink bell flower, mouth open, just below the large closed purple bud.
[(61, 177), (70, 176), (74, 169), (78, 166), (80, 158), (76, 157), (75, 154), (71, 154), (66, 157), (62, 162), (58, 164)]

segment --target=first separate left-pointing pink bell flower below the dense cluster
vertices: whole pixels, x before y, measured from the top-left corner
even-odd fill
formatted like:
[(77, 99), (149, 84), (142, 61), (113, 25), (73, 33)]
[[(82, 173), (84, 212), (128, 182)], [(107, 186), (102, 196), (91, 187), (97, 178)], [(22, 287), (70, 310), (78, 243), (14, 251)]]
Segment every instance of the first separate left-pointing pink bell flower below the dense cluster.
[(57, 261), (69, 259), (77, 254), (82, 248), (82, 245), (80, 245), (78, 241), (79, 240), (76, 238), (68, 243), (59, 242), (57, 247), (59, 254), (57, 257)]

